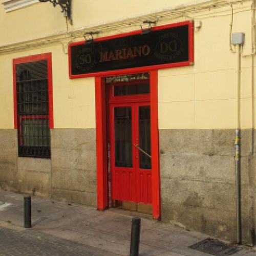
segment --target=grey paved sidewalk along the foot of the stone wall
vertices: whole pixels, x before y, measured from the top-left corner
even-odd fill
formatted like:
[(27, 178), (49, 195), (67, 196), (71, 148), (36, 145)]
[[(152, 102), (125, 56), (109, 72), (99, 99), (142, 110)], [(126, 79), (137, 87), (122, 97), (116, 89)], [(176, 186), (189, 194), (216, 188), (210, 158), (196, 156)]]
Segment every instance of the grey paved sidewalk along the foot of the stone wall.
[[(0, 227), (25, 230), (23, 218), (23, 195), (0, 190)], [(97, 211), (84, 205), (32, 197), (33, 232), (66, 239), (61, 243), (66, 241), (67, 248), (71, 241), (94, 248), (94, 255), (129, 255), (131, 220), (132, 216), (122, 210)], [(209, 255), (188, 248), (207, 237), (195, 231), (143, 218), (140, 236), (140, 255)], [(242, 249), (232, 255), (252, 256), (256, 252)]]

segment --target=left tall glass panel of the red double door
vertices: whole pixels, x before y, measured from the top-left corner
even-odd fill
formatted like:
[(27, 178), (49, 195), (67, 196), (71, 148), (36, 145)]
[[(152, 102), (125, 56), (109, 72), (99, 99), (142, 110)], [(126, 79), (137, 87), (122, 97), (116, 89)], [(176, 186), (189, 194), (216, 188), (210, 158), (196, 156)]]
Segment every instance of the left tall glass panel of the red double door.
[(132, 108), (114, 109), (115, 166), (132, 167)]

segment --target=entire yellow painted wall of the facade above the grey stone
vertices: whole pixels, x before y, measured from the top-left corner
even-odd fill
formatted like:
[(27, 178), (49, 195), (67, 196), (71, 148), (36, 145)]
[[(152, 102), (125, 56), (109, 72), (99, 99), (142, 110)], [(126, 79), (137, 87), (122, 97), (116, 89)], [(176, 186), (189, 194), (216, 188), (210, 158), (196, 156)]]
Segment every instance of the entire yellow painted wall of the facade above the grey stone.
[[(191, 1), (182, 3), (186, 2)], [(161, 5), (153, 0), (142, 0), (139, 3), (135, 0), (130, 2), (113, 0), (112, 5), (103, 0), (98, 0), (97, 3), (91, 0), (75, 0), (73, 3), (74, 26), (69, 29), (90, 27), (96, 23), (107, 23), (154, 10), (167, 9), (178, 4), (178, 1), (163, 0)], [(234, 6), (236, 13), (234, 13), (233, 32), (245, 33), (244, 53), (249, 53), (251, 50), (249, 8), (250, 2), (244, 3), (243, 6), (241, 4)], [(236, 54), (229, 51), (230, 7), (191, 13), (190, 16), (202, 22), (202, 28), (195, 32), (195, 65), (159, 70), (159, 128), (233, 129), (236, 127), (237, 58)], [(162, 20), (161, 24), (176, 21), (168, 18)], [(5, 13), (4, 9), (0, 8), (0, 30), (5, 35), (0, 38), (0, 47), (3, 44), (12, 44), (65, 29), (65, 19), (59, 7), (54, 9), (50, 3), (38, 3), (9, 13)], [(121, 32), (122, 29), (118, 31)], [(68, 55), (62, 51), (61, 44), (56, 44), (0, 55), (0, 129), (13, 128), (12, 59), (46, 52), (52, 52), (54, 127), (94, 128), (94, 78), (70, 80)], [(250, 79), (251, 57), (243, 57), (242, 128), (252, 127)], [(256, 115), (256, 104), (254, 104), (254, 115)]]

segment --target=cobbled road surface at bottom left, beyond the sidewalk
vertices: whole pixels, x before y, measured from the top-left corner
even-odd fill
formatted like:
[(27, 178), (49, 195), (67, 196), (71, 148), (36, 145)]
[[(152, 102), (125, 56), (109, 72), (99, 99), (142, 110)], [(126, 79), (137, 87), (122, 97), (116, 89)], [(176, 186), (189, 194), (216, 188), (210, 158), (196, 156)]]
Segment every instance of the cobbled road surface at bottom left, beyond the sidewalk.
[(117, 255), (34, 229), (15, 230), (0, 227), (0, 238), (0, 255)]

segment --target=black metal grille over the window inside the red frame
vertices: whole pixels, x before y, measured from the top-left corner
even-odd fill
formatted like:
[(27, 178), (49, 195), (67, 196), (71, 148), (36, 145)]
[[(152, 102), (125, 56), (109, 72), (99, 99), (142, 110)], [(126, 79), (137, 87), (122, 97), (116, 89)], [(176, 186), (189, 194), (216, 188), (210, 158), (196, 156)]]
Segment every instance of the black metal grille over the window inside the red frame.
[(18, 155), (50, 158), (47, 60), (16, 65)]

